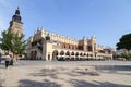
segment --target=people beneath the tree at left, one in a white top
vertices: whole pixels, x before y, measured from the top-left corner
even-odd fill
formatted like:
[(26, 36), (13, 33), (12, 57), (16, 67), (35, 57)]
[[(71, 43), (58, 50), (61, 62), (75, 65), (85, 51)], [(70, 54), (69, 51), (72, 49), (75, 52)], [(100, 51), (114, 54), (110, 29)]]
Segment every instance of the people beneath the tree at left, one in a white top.
[[(7, 53), (5, 54), (5, 69), (8, 69), (9, 65), (13, 65), (13, 62), (16, 64), (16, 60), (12, 58), (11, 54)], [(1, 64), (2, 58), (0, 57), (0, 64)]]

